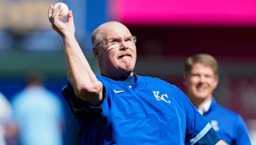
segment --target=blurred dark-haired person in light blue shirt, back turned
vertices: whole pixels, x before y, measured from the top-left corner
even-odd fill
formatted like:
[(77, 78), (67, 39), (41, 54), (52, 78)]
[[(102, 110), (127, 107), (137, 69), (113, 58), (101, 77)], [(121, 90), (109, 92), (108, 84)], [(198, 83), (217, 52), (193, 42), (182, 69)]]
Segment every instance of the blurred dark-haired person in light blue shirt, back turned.
[(13, 119), (20, 144), (63, 144), (61, 100), (42, 85), (40, 74), (29, 73), (26, 79), (26, 88), (13, 97)]

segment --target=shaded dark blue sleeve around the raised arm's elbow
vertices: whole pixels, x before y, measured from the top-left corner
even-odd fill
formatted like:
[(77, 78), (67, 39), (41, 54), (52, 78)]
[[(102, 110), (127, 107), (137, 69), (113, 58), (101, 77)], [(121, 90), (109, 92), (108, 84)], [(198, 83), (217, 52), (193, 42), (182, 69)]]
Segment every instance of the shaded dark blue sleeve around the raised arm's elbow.
[(90, 106), (90, 104), (84, 100), (79, 99), (74, 93), (74, 90), (72, 88), (72, 85), (69, 81), (63, 85), (62, 88), (62, 95), (65, 98), (65, 100), (68, 102), (68, 106), (70, 107), (71, 111), (78, 115), (83, 113), (93, 113), (95, 111), (100, 111), (102, 107), (102, 103), (105, 98), (105, 87), (103, 86), (103, 99), (100, 102), (99, 106)]

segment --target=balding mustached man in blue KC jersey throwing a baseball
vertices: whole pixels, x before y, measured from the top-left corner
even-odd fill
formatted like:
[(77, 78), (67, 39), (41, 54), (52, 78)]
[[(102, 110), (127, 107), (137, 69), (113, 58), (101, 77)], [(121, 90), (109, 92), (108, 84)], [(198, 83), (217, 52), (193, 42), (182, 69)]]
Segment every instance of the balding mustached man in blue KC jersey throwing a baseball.
[(94, 74), (74, 37), (72, 11), (60, 21), (60, 6), (49, 20), (64, 42), (68, 81), (63, 96), (76, 116), (81, 144), (215, 144), (211, 125), (179, 88), (139, 76), (136, 37), (120, 22), (106, 22), (92, 34), (101, 75)]

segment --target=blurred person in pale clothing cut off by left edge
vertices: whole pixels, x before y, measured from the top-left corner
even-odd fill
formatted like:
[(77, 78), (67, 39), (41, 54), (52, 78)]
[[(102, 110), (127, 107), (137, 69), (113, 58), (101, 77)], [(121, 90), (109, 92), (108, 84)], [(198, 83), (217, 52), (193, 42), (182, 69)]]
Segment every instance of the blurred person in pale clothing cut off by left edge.
[(2, 93), (0, 93), (0, 144), (5, 145), (6, 142), (5, 134), (6, 134), (6, 123), (10, 120), (10, 116), (12, 114), (12, 107), (8, 100), (4, 97)]

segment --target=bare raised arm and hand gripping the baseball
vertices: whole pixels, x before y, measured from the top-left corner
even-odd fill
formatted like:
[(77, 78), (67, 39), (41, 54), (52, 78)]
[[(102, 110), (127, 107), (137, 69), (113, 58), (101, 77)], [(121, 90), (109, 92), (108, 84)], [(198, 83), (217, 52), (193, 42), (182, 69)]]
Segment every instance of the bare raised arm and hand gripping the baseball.
[(60, 20), (60, 6), (56, 10), (51, 5), (48, 17), (52, 28), (63, 38), (65, 56), (67, 60), (68, 79), (80, 99), (97, 106), (102, 100), (102, 83), (98, 81), (93, 73), (86, 57), (84, 57), (75, 38), (74, 17), (72, 11), (68, 11), (67, 22)]

